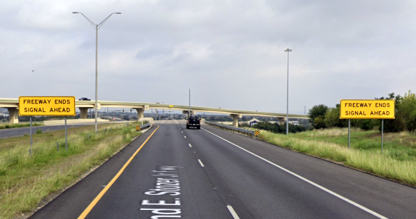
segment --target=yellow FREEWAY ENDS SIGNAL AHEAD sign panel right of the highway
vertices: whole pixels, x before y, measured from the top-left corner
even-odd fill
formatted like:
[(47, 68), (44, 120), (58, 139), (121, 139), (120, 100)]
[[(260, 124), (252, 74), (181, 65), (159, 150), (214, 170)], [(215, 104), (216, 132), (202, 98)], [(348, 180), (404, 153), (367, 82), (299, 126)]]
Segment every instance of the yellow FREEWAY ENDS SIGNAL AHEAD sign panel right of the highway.
[(341, 99), (341, 119), (394, 119), (394, 99)]

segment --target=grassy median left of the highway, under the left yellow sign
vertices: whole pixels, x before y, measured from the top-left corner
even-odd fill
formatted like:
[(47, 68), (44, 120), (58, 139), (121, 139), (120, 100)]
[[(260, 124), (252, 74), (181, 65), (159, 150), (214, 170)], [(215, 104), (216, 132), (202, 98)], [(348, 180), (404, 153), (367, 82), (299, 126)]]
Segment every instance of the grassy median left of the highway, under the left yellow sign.
[(76, 182), (140, 135), (137, 124), (99, 124), (97, 134), (94, 126), (69, 128), (68, 151), (63, 130), (33, 135), (31, 156), (30, 137), (1, 139), (0, 158), (20, 155), (0, 160), (0, 218), (31, 212), (42, 199)]

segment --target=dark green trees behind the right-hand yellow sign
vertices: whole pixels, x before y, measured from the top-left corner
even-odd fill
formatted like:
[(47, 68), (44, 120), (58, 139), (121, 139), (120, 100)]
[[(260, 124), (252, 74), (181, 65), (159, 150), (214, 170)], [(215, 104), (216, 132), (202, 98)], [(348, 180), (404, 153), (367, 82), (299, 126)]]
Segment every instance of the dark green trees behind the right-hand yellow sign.
[[(415, 131), (416, 129), (416, 95), (415, 93), (395, 95), (389, 93), (387, 97), (374, 99), (395, 99), (395, 119), (384, 120), (385, 132)], [(308, 113), (313, 128), (348, 127), (348, 120), (340, 119), (340, 104), (331, 108), (323, 104), (313, 106)], [(381, 120), (351, 120), (351, 126), (370, 130), (378, 127), (381, 130)]]

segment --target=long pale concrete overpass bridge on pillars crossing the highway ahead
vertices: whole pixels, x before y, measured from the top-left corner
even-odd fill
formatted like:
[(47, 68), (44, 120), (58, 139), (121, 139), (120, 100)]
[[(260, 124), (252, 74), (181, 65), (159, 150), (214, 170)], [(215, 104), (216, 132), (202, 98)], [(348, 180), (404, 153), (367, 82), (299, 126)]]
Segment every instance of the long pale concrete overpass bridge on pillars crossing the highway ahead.
[[(76, 108), (80, 109), (81, 119), (87, 119), (87, 113), (89, 108), (95, 107), (95, 101), (93, 100), (76, 100)], [(168, 109), (171, 111), (182, 111), (184, 114), (189, 113), (189, 106), (186, 105), (175, 105), (175, 104), (157, 104), (157, 103), (141, 103), (141, 102), (114, 102), (114, 101), (97, 101), (97, 109), (101, 107), (110, 107), (110, 108), (133, 108), (137, 111), (138, 120), (144, 118), (144, 111), (150, 110), (150, 108), (157, 109)], [(0, 98), (0, 108), (7, 108), (9, 112), (10, 123), (18, 123), (19, 115), (19, 99), (8, 99)], [(212, 107), (203, 107), (203, 106), (191, 106), (191, 115), (195, 115), (196, 112), (201, 113), (223, 113), (229, 114), (233, 118), (234, 126), (239, 125), (239, 118), (243, 115), (255, 115), (263, 117), (275, 117), (282, 123), (286, 120), (286, 113), (267, 113), (267, 112), (258, 112), (258, 111), (241, 111), (235, 109), (227, 108), (212, 108)], [(299, 114), (289, 114), (289, 118), (295, 119), (308, 119), (307, 115)]]

